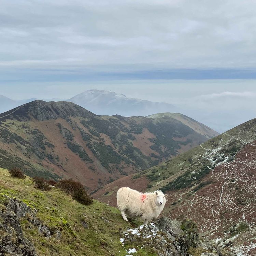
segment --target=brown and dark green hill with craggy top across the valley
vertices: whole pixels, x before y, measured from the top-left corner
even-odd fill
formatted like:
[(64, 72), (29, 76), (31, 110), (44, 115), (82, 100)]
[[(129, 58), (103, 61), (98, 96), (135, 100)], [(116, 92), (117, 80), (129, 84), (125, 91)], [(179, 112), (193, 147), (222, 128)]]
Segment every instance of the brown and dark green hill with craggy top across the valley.
[(0, 167), (68, 176), (95, 189), (207, 140), (168, 117), (97, 116), (72, 102), (36, 100), (0, 114)]

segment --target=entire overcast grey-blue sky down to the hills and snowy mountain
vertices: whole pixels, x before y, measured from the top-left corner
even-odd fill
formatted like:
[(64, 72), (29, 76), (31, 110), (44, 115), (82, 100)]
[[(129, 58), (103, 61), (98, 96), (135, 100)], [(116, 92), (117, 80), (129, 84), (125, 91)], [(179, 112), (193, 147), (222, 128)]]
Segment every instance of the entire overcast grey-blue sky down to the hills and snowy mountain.
[(95, 88), (208, 119), (238, 109), (253, 118), (255, 10), (254, 0), (1, 0), (0, 95), (68, 99)]

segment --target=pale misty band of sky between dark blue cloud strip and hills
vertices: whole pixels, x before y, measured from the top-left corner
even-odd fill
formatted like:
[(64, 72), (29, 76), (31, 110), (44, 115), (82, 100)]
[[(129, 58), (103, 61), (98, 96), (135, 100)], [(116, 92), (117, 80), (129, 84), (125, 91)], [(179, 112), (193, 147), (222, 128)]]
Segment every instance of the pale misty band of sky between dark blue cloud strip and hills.
[[(50, 84), (48, 87), (46, 85), (44, 87), (24, 85), (22, 91), (1, 86), (0, 95), (14, 100), (29, 98), (68, 100), (86, 90), (103, 89), (124, 94), (130, 98), (173, 104), (177, 108), (177, 112), (194, 118), (218, 132), (224, 132), (256, 118), (256, 87), (254, 83), (254, 80), (154, 80), (144, 81), (144, 83), (129, 81), (129, 83), (120, 85), (120, 82), (116, 81), (112, 84), (83, 83), (73, 86), (69, 84), (56, 86)], [(29, 91), (28, 94), (27, 91)], [(15, 94), (19, 97), (12, 97)], [(90, 108), (87, 109), (90, 110)], [(105, 112), (101, 113), (99, 110), (96, 114), (105, 114)], [(118, 109), (116, 114), (120, 114)]]

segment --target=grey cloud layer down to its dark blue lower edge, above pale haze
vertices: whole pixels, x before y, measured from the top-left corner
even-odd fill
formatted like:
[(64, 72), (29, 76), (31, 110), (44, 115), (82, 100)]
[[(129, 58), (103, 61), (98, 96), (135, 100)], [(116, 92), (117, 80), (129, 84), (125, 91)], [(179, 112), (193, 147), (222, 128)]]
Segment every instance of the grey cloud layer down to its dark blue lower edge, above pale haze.
[(255, 9), (249, 0), (3, 0), (1, 80), (256, 78)]

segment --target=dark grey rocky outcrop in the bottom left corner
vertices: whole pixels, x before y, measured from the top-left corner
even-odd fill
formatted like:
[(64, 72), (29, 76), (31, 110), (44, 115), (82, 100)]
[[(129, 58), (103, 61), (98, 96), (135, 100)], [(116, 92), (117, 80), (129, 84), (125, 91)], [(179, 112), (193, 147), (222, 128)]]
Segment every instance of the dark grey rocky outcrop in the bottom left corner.
[(0, 255), (36, 256), (33, 244), (24, 237), (20, 220), (25, 218), (45, 238), (51, 237), (49, 228), (27, 204), (7, 196), (4, 204), (5, 208), (0, 208)]

